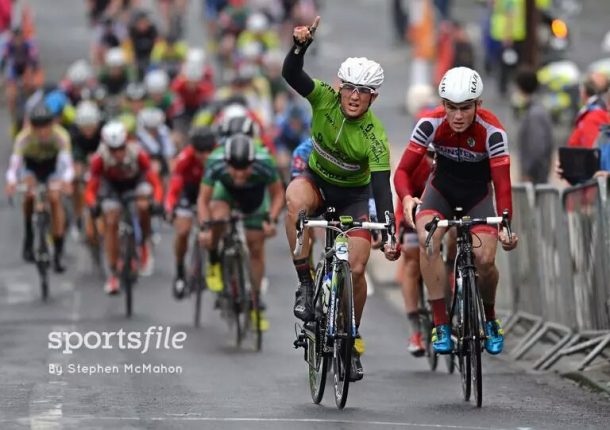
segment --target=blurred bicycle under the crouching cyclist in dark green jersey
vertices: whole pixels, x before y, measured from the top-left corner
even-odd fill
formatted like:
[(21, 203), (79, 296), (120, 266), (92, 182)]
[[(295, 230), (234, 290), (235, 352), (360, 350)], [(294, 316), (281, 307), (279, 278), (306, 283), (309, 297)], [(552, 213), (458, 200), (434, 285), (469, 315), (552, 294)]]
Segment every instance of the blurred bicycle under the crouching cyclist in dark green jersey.
[(244, 218), (254, 216), (259, 215), (243, 215), (233, 211), (227, 219), (207, 221), (204, 225), (228, 226), (220, 247), (223, 291), (218, 295), (217, 304), (229, 329), (234, 331), (235, 345), (242, 347), (244, 340), (252, 335), (254, 349), (260, 351), (263, 348), (260, 291), (253, 288), (250, 253), (243, 224)]

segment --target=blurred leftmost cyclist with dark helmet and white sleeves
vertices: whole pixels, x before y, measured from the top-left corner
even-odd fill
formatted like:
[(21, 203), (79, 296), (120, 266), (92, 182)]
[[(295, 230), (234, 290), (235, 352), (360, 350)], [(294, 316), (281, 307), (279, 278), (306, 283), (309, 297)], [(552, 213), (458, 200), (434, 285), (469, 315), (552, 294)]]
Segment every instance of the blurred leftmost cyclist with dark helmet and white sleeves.
[(61, 201), (61, 193), (71, 192), (71, 182), (74, 177), (74, 166), (70, 148), (70, 137), (53, 123), (53, 113), (44, 103), (39, 103), (30, 112), (30, 125), (17, 135), (8, 171), (6, 172), (6, 193), (12, 196), (18, 182), (24, 182), (28, 187), (23, 205), (25, 237), (23, 242), (23, 258), (34, 261), (32, 211), (32, 190), (37, 182), (49, 185), (49, 204), (51, 206), (51, 232), (55, 248), (53, 268), (63, 272), (62, 263), (65, 213)]

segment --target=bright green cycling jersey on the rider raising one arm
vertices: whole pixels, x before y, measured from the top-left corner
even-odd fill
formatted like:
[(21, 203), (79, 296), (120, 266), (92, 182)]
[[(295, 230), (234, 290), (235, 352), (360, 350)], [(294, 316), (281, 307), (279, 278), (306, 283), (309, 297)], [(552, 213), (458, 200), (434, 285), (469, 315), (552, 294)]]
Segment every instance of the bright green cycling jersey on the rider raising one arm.
[(390, 170), (390, 148), (381, 121), (369, 109), (358, 119), (341, 111), (339, 94), (314, 79), (307, 95), (313, 111), (313, 151), (309, 167), (325, 181), (340, 187), (371, 182), (371, 172)]

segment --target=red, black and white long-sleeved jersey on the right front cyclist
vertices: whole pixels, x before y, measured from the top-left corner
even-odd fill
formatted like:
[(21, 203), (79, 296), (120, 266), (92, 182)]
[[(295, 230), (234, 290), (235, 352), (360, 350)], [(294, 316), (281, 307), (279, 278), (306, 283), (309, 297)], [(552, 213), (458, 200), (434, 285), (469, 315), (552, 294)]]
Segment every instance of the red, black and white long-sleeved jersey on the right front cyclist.
[(472, 200), (485, 195), (489, 182), (495, 190), (498, 212), (512, 214), (508, 137), (500, 121), (488, 110), (477, 108), (473, 123), (465, 131), (454, 132), (442, 106), (423, 115), (413, 130), (394, 177), (402, 201), (414, 195), (410, 178), (425, 155), (428, 145), (436, 150), (436, 167), (431, 184), (452, 201)]

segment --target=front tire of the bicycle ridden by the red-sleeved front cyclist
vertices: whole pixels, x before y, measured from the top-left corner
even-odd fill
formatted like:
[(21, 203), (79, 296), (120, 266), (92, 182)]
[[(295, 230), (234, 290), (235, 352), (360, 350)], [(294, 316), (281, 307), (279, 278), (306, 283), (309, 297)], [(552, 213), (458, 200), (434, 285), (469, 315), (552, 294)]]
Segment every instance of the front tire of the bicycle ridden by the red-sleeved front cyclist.
[(476, 276), (474, 270), (470, 269), (467, 272), (466, 279), (468, 279), (468, 288), (470, 290), (470, 311), (469, 311), (469, 350), (470, 350), (470, 365), (471, 365), (471, 376), (472, 385), (474, 391), (474, 399), (478, 408), (483, 403), (483, 376), (481, 366), (481, 312), (482, 306), (480, 303), (480, 296), (477, 290)]

